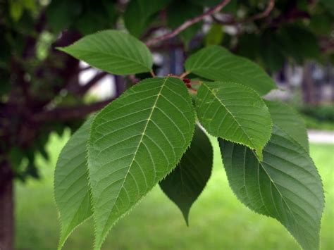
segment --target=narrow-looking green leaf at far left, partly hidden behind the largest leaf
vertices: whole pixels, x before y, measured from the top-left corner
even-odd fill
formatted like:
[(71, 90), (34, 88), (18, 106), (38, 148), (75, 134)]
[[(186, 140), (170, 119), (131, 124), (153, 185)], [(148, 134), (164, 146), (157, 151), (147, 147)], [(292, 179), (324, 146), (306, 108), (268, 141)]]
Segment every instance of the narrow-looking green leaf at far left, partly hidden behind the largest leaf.
[(54, 197), (60, 214), (61, 238), (58, 249), (75, 227), (92, 215), (91, 194), (88, 185), (86, 145), (91, 116), (75, 134), (70, 137), (59, 155), (54, 172)]

